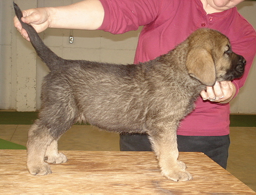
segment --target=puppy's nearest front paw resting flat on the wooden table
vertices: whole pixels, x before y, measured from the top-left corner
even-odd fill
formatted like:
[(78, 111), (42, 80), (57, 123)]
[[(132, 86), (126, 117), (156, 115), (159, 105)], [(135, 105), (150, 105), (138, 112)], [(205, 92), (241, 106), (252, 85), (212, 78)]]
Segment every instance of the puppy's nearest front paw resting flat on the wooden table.
[(169, 170), (162, 169), (162, 175), (167, 179), (174, 181), (188, 181), (193, 179), (192, 175), (180, 168), (180, 166), (172, 167), (172, 169)]

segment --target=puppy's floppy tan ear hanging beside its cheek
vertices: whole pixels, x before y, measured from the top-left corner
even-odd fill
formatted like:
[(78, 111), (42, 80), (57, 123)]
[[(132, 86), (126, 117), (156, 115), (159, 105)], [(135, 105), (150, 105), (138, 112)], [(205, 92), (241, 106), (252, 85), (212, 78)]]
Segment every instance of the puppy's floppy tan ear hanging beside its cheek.
[(205, 49), (192, 49), (188, 52), (186, 67), (188, 74), (206, 86), (216, 82), (216, 69), (212, 55)]

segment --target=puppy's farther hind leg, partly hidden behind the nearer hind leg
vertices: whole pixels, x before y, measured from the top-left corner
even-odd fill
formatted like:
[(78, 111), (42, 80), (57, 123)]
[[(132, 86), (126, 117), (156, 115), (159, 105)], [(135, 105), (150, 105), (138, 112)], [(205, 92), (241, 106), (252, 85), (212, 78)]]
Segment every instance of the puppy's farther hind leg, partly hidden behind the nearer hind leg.
[(54, 139), (48, 146), (45, 152), (44, 160), (48, 163), (65, 163), (67, 158), (64, 154), (58, 152), (58, 140)]

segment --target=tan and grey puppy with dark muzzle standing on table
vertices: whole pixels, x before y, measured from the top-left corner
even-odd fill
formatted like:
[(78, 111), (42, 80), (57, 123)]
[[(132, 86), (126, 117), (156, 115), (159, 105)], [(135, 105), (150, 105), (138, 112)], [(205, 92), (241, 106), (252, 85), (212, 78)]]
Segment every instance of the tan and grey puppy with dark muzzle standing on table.
[[(20, 20), (16, 5), (15, 10)], [(28, 134), (31, 174), (49, 174), (47, 163), (66, 162), (57, 141), (75, 122), (85, 121), (108, 131), (147, 133), (162, 174), (175, 181), (192, 179), (177, 160), (176, 129), (201, 90), (242, 76), (245, 59), (232, 52), (227, 37), (200, 29), (155, 60), (121, 65), (64, 60), (30, 25), (21, 23), (50, 70), (42, 85), (39, 119)]]

